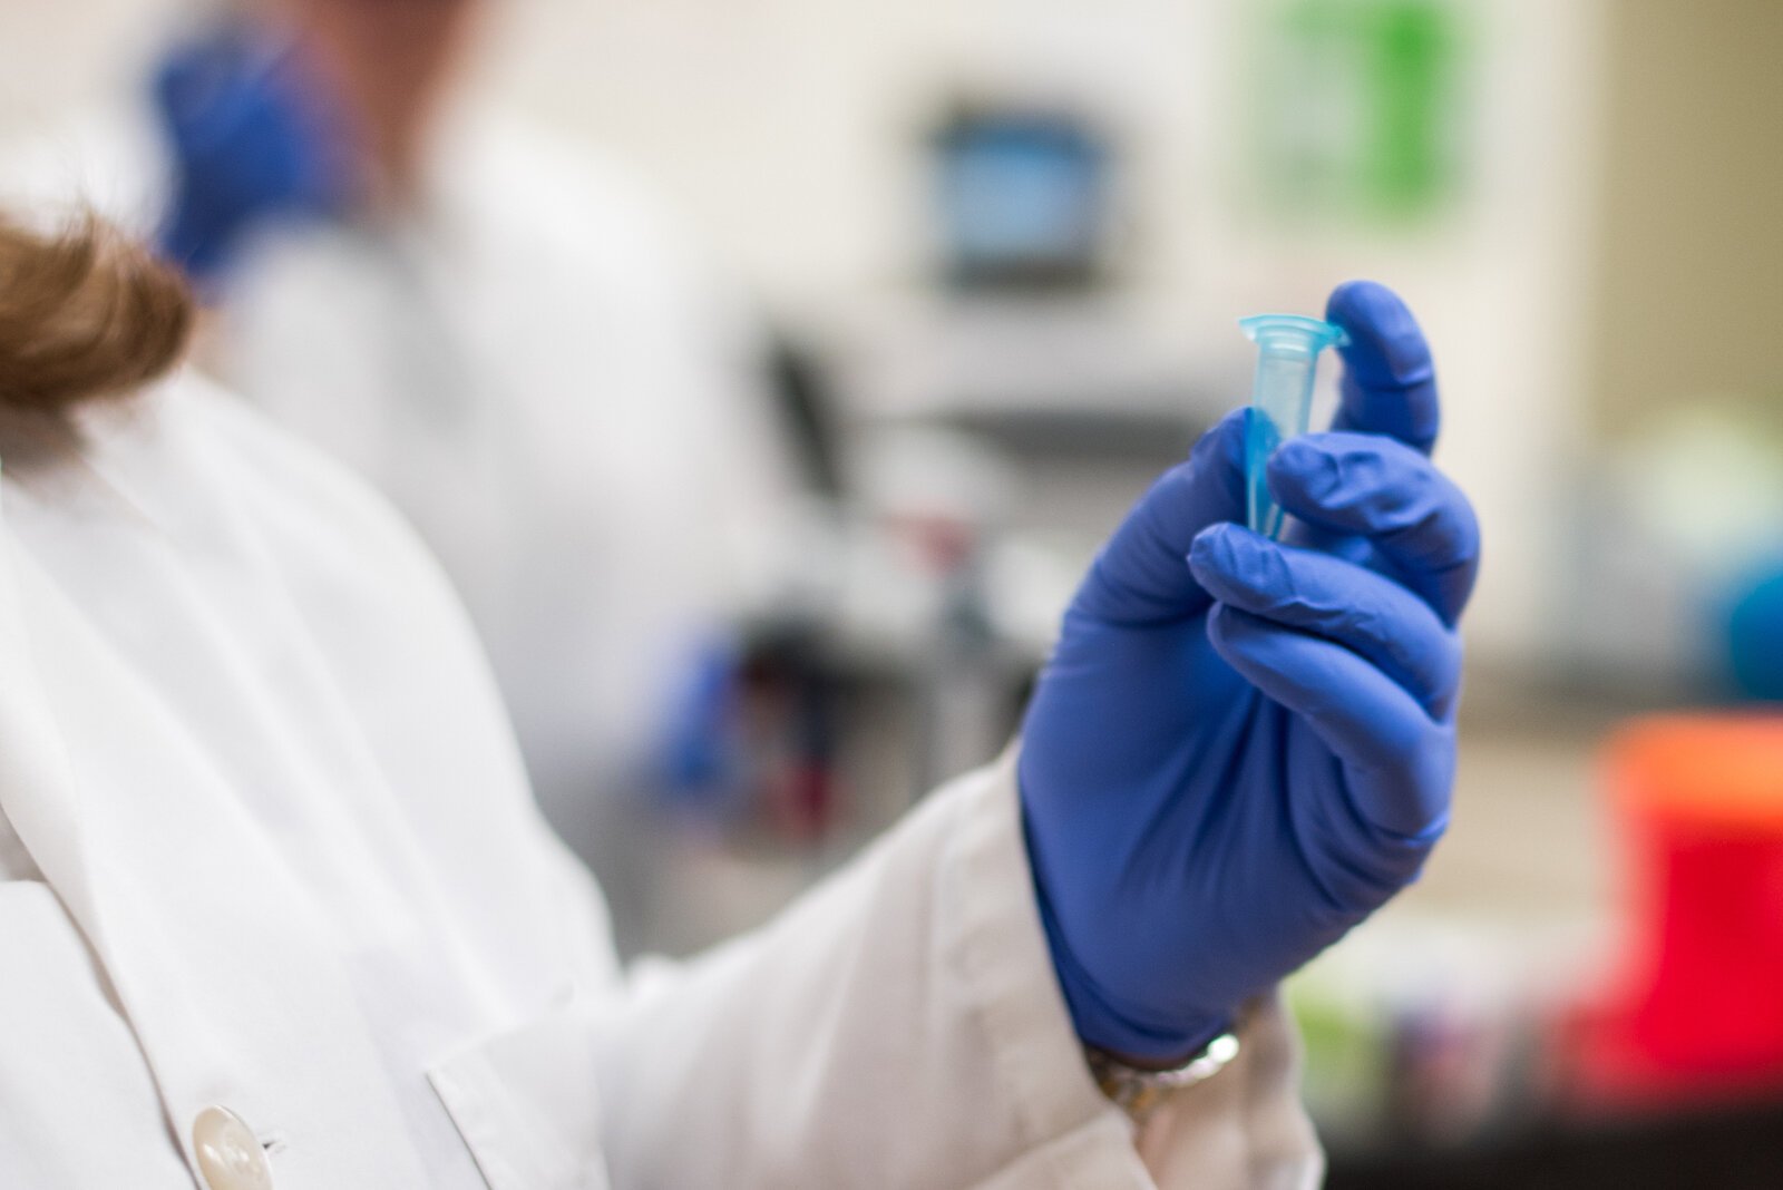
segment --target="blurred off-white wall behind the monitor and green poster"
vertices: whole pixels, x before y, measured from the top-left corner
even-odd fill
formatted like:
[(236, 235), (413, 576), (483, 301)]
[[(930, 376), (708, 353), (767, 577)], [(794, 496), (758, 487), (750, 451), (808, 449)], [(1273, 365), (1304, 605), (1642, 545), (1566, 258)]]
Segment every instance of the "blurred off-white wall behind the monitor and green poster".
[[(123, 87), (168, 0), (0, 9), (0, 135)], [(1476, 0), (1478, 192), (1412, 239), (1287, 239), (1228, 183), (1246, 0), (503, 0), (480, 86), (638, 160), (790, 314), (906, 281), (922, 251), (913, 135), (943, 87), (1039, 87), (1127, 130), (1141, 317), (1225, 342), (1239, 314), (1316, 310), (1371, 274), (1441, 349), (1446, 465), (1489, 566), (1480, 654), (1541, 647), (1557, 477), (1582, 424), (1603, 0)], [(1239, 399), (1243, 394), (1234, 394)]]

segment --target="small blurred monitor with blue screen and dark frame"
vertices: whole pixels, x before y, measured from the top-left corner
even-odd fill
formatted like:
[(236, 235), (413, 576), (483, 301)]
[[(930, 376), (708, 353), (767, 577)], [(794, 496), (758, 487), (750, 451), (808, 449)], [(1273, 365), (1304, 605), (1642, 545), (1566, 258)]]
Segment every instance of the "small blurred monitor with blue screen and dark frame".
[(1039, 107), (959, 107), (934, 137), (941, 249), (970, 290), (1084, 289), (1109, 224), (1104, 137)]

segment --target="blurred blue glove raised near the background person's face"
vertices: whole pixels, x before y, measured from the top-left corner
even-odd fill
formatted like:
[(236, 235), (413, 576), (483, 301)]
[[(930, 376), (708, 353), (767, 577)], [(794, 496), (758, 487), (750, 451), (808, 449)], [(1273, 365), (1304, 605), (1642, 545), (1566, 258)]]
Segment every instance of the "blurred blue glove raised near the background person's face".
[(348, 200), (344, 123), (303, 77), (294, 50), (232, 25), (177, 48), (155, 73), (173, 151), (160, 249), (200, 285), (267, 216), (326, 216)]

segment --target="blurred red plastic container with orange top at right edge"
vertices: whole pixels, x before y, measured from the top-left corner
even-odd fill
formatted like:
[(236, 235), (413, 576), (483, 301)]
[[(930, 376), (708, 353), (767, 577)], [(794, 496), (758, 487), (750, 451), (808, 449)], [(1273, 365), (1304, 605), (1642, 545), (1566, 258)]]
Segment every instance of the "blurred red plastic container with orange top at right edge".
[(1783, 1092), (1783, 716), (1639, 720), (1605, 750), (1630, 948), (1583, 1021), (1594, 1103)]

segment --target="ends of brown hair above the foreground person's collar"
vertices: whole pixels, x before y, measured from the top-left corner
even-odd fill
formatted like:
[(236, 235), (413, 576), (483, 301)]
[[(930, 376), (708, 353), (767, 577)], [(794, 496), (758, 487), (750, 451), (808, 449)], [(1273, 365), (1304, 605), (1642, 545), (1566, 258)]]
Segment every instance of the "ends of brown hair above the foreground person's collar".
[(185, 281), (116, 228), (59, 233), (0, 217), (0, 403), (37, 412), (127, 395), (191, 337)]

